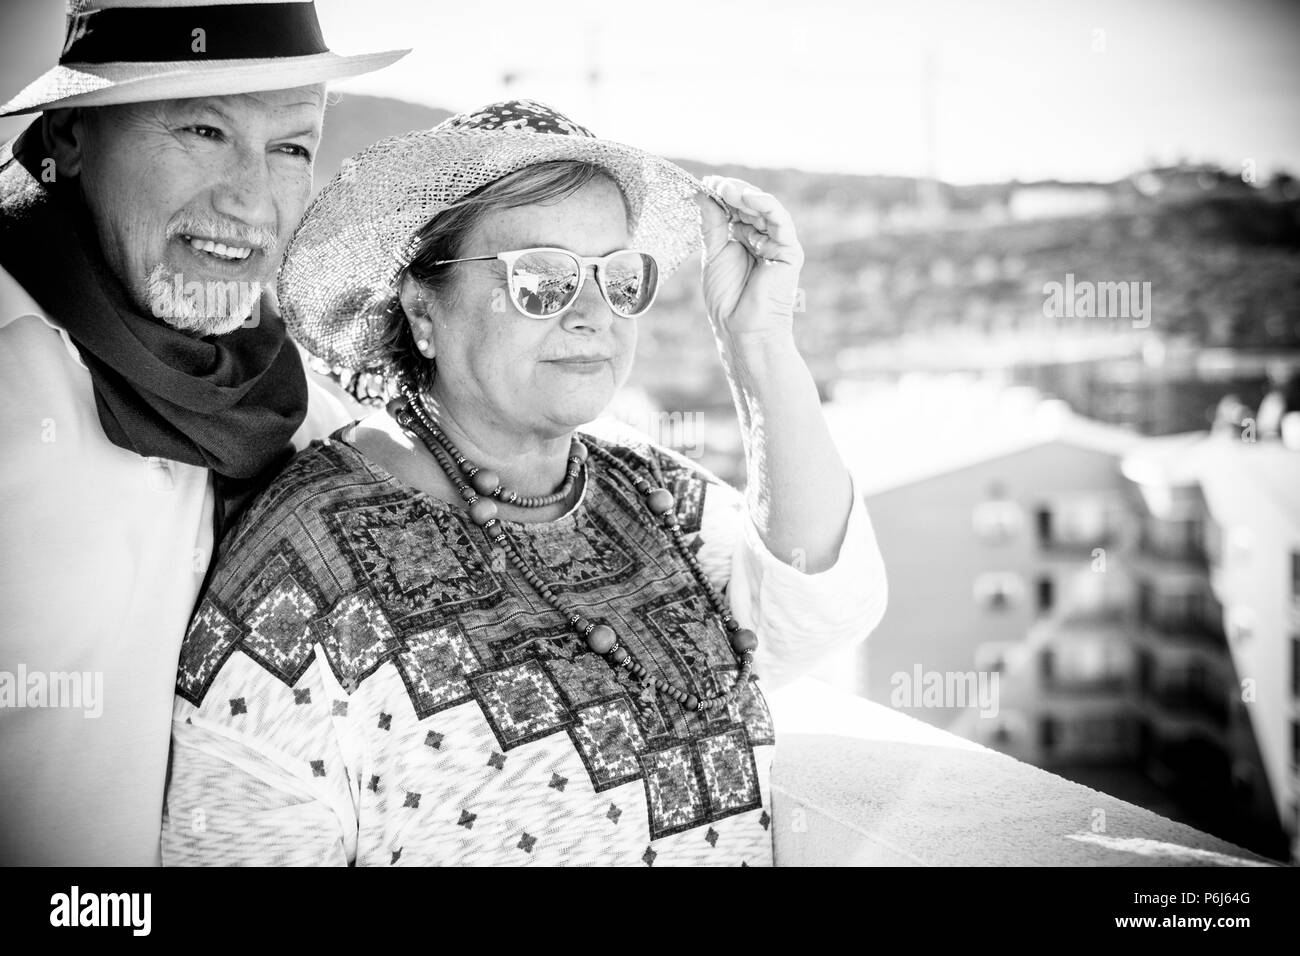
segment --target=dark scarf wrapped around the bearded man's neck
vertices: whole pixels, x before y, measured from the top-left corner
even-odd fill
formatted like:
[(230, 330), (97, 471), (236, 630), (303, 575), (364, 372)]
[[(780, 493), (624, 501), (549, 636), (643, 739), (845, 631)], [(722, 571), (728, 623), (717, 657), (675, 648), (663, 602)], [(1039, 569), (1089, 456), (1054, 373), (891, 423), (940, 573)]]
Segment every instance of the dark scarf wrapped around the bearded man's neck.
[(40, 120), (0, 151), (0, 265), (81, 350), (104, 434), (138, 455), (211, 468), (216, 525), (292, 454), (307, 378), (283, 320), (198, 338), (144, 315), (99, 251), (75, 182), (42, 182)]

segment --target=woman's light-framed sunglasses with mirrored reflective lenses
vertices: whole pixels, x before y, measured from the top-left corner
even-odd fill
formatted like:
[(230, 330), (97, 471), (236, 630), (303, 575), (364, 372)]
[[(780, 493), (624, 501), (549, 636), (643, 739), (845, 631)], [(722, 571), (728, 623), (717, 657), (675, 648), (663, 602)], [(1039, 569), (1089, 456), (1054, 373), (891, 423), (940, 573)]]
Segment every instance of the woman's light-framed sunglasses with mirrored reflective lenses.
[(567, 248), (542, 246), (516, 248), (494, 256), (443, 259), (434, 265), (499, 259), (508, 274), (510, 300), (529, 319), (554, 319), (572, 306), (586, 284), (586, 269), (595, 267), (601, 295), (615, 315), (634, 319), (654, 304), (659, 291), (659, 264), (649, 252), (628, 248), (607, 256), (580, 256)]

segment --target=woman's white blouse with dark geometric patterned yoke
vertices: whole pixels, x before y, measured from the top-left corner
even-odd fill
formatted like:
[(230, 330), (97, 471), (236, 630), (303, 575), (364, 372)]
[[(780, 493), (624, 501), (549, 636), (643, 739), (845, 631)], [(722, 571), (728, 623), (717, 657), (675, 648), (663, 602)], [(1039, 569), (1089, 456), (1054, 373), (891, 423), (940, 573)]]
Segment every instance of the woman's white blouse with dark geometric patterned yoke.
[[(589, 652), (468, 515), (344, 438), (300, 453), (222, 546), (181, 652), (166, 865), (771, 865), (763, 687), (861, 640), (885, 580), (864, 506), (836, 564), (770, 554), (744, 497), (676, 453), (597, 438), (671, 489), (706, 575), (759, 637), (708, 714)], [(736, 659), (630, 483), (588, 459), (528, 563), (694, 693)], [(495, 555), (495, 557), (494, 557)]]

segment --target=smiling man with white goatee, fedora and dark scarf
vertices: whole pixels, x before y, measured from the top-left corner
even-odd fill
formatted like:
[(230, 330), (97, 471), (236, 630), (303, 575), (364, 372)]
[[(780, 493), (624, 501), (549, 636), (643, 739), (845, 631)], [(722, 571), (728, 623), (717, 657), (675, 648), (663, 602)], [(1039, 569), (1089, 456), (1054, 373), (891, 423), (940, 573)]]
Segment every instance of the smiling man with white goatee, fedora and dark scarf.
[(214, 541), (343, 421), (263, 284), (332, 53), (311, 3), (73, 0), (0, 113), (0, 864), (153, 865), (177, 654)]

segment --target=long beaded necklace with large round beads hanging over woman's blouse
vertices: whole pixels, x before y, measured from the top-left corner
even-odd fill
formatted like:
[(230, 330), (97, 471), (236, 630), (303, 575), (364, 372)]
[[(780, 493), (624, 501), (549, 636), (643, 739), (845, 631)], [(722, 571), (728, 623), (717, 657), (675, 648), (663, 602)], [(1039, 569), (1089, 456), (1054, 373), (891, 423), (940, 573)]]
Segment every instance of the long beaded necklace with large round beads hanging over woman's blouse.
[[(749, 675), (754, 666), (754, 649), (758, 646), (758, 635), (748, 627), (741, 627), (731, 614), (725, 598), (705, 576), (690, 546), (686, 544), (677, 523), (676, 502), (672, 492), (667, 488), (654, 488), (641, 475), (637, 475), (627, 463), (602, 447), (593, 446), (590, 453), (595, 454), (604, 464), (627, 477), (641, 493), (650, 524), (658, 523), (667, 531), (672, 546), (686, 562), (692, 575), (701, 589), (708, 597), (714, 611), (718, 614), (723, 628), (727, 631), (732, 652), (740, 663), (736, 679), (727, 691), (706, 695), (703, 697), (682, 689), (677, 684), (663, 678), (651, 676), (645, 665), (637, 661), (632, 653), (619, 641), (614, 628), (588, 620), (571, 607), (564, 600), (555, 594), (550, 584), (542, 580), (533, 568), (528, 566), (517, 542), (506, 532), (504, 525), (497, 518), (497, 502), (494, 498), (516, 505), (519, 507), (545, 507), (558, 501), (563, 501), (573, 489), (585, 462), (589, 449), (576, 436), (569, 446), (568, 467), (564, 480), (551, 494), (521, 496), (508, 490), (500, 484), (499, 476), (489, 468), (480, 468), (473, 462), (460, 454), (447, 433), (433, 420), (422, 398), (417, 397), (407, 385), (402, 386), (402, 394), (389, 402), (389, 414), (407, 433), (417, 437), (429, 450), (438, 467), (442, 468), (447, 479), (451, 480), (460, 497), (465, 499), (469, 519), (482, 528), (488, 538), (504, 550), (506, 557), (519, 568), (524, 580), (528, 581), (546, 604), (554, 607), (568, 619), (569, 627), (586, 641), (586, 645), (603, 657), (614, 669), (627, 670), (636, 680), (644, 685), (654, 688), (656, 693), (666, 695), (681, 704), (686, 710), (714, 710), (723, 706), (728, 700), (749, 682)], [(468, 477), (468, 481), (465, 480)], [(658, 522), (655, 520), (658, 519)]]

